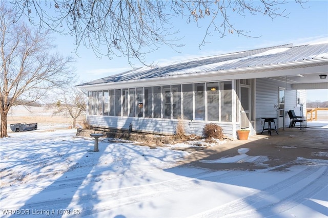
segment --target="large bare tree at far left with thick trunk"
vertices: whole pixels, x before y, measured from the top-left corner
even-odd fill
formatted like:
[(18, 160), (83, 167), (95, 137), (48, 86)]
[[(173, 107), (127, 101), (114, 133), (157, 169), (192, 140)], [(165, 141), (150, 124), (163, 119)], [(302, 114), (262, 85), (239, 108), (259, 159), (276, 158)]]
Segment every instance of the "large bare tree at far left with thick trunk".
[(75, 77), (73, 59), (55, 52), (49, 31), (31, 29), (15, 18), (13, 10), (0, 3), (1, 138), (8, 137), (11, 106), (36, 102)]

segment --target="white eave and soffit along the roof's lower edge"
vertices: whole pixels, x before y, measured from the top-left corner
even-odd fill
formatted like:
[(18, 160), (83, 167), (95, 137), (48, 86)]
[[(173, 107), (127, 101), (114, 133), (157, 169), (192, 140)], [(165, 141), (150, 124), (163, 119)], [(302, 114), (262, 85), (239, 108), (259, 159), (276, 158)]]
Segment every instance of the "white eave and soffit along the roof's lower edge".
[(328, 74), (328, 58), (129, 81), (85, 84), (78, 87), (86, 90), (102, 90), (215, 80), (273, 78), (292, 84), (293, 89), (301, 87), (308, 87), (309, 89), (328, 89), (328, 77), (326, 79), (320, 79), (319, 75), (322, 74)]

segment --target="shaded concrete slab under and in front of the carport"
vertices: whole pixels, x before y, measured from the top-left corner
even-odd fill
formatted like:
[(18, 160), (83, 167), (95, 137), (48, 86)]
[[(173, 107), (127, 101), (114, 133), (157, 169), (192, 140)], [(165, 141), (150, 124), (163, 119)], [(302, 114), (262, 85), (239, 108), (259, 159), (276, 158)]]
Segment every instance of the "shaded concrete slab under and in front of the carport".
[[(308, 128), (278, 129), (279, 135), (268, 132), (263, 135), (250, 136), (248, 140), (233, 140), (223, 145), (193, 152), (182, 164), (213, 170), (241, 169), (254, 170), (259, 168), (272, 168), (286, 170), (295, 164), (306, 164), (307, 159), (328, 160), (328, 121), (308, 122)], [(247, 161), (234, 163), (204, 163), (202, 160), (219, 160), (240, 155), (239, 149), (247, 148), (248, 156), (267, 157), (269, 160), (263, 165)], [(305, 160), (305, 162), (300, 162)]]

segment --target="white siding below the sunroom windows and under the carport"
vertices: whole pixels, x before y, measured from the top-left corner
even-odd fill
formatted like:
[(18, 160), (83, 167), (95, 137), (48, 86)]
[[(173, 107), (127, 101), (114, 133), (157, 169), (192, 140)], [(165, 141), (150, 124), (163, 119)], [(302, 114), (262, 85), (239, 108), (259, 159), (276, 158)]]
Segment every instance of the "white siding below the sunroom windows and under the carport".
[[(254, 83), (253, 83), (254, 84)], [(239, 86), (237, 86), (238, 89)], [(284, 112), (284, 126), (289, 126), (290, 119), (287, 114), (288, 110), (294, 110), (297, 115), (306, 111), (306, 105), (301, 107), (301, 103), (304, 103), (306, 99), (305, 91), (292, 90), (291, 84), (286, 84), (278, 80), (270, 78), (259, 78), (255, 80), (255, 112), (254, 118), (251, 120), (251, 135), (261, 133), (263, 129), (262, 117), (277, 117), (278, 104), (278, 93), (279, 88), (285, 89), (285, 112)], [(234, 95), (233, 95), (234, 96)], [(297, 101), (297, 98), (300, 101)], [(239, 100), (235, 101), (236, 105), (233, 106), (234, 110), (239, 111), (238, 104)], [(300, 111), (303, 108), (303, 111)], [(234, 114), (234, 113), (233, 113)], [(238, 114), (238, 113), (237, 113)], [(123, 116), (101, 116), (101, 115), (88, 115), (87, 120), (90, 126), (98, 128), (115, 128), (128, 130), (130, 123), (133, 125), (133, 130), (146, 132), (146, 133), (157, 133), (157, 134), (175, 134), (177, 119), (166, 119), (166, 118), (148, 118), (148, 117), (123, 117)], [(276, 125), (279, 127), (283, 126), (283, 119), (280, 117)], [(218, 124), (223, 128), (223, 134), (229, 138), (236, 139), (236, 130), (240, 128), (238, 116), (236, 120), (233, 118), (232, 122), (223, 121), (204, 121), (204, 120), (183, 120), (185, 125), (185, 131), (187, 135), (195, 134), (202, 135), (204, 125), (208, 123)]]

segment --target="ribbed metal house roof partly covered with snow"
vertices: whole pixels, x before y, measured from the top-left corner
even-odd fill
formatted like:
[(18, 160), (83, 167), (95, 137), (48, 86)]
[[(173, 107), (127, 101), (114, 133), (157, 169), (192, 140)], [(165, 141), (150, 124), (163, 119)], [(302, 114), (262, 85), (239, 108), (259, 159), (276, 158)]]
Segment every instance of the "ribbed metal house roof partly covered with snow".
[(292, 44), (289, 44), (189, 59), (155, 68), (142, 67), (77, 86), (137, 81), (140, 79), (149, 78), (165, 78), (169, 76), (192, 75), (197, 73), (211, 73), (250, 67), (260, 68), (262, 66), (279, 66), (285, 63), (305, 62), (308, 60), (320, 60), (327, 58), (327, 42), (295, 47), (293, 47)]

